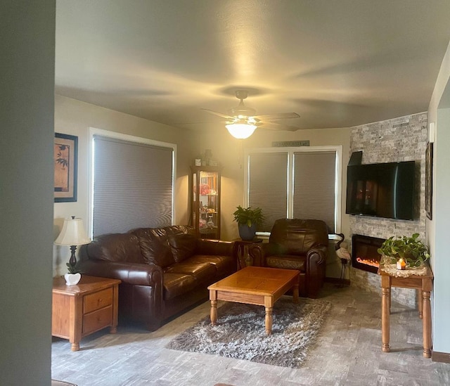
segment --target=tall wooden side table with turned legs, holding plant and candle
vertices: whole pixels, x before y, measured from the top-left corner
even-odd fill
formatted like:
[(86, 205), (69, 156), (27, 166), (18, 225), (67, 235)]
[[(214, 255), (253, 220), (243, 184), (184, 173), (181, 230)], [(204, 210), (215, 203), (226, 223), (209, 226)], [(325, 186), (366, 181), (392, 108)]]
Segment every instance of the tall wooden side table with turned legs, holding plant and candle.
[(433, 288), (433, 274), (429, 266), (425, 275), (411, 275), (406, 278), (396, 277), (383, 271), (383, 266), (378, 269), (381, 276), (381, 339), (383, 352), (390, 352), (390, 304), (391, 287), (416, 288), (419, 294), (419, 317), (422, 319), (423, 329), (423, 356), (431, 357), (431, 304), (430, 292)]

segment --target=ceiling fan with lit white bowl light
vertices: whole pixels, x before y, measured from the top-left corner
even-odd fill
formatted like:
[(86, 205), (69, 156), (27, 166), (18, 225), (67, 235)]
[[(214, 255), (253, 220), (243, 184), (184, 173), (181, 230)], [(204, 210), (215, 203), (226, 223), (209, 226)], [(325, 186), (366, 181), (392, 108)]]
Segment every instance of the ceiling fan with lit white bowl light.
[(255, 115), (256, 110), (244, 105), (244, 99), (248, 97), (248, 91), (237, 90), (236, 98), (240, 100), (239, 105), (229, 110), (229, 114), (223, 114), (214, 110), (203, 108), (211, 114), (226, 118), (224, 123), (230, 134), (237, 139), (245, 139), (253, 134), (257, 127), (272, 130), (288, 130), (297, 131), (298, 127), (288, 126), (286, 124), (276, 123), (273, 121), (285, 120), (287, 118), (298, 118), (296, 112), (281, 112), (278, 114)]

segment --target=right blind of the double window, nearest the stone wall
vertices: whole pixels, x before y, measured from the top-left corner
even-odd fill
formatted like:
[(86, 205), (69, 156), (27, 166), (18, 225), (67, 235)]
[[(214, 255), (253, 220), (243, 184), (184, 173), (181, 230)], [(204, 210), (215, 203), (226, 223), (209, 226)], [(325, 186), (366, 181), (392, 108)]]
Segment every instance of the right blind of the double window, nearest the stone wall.
[(293, 214), (319, 219), (335, 232), (335, 152), (294, 153)]

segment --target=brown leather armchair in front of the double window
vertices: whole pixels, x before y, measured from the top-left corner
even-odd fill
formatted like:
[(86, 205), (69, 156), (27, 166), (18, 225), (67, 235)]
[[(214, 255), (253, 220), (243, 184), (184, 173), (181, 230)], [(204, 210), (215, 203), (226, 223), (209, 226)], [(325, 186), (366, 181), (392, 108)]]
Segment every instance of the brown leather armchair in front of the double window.
[(300, 271), (300, 296), (317, 297), (325, 279), (328, 255), (328, 227), (314, 219), (279, 219), (269, 243), (254, 250), (255, 264)]

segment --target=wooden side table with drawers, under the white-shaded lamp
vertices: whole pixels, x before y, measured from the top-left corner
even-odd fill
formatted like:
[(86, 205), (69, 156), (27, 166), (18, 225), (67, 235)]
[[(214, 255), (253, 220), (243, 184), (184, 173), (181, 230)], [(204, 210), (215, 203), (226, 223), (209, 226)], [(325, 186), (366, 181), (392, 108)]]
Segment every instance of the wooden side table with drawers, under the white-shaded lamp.
[(110, 327), (117, 331), (120, 280), (82, 276), (77, 285), (53, 279), (51, 335), (68, 339), (72, 351), (79, 350), (82, 337)]

